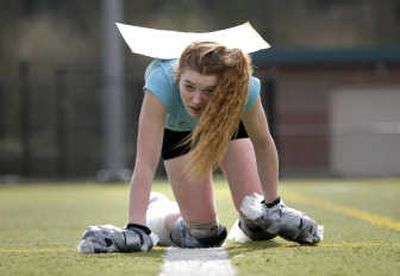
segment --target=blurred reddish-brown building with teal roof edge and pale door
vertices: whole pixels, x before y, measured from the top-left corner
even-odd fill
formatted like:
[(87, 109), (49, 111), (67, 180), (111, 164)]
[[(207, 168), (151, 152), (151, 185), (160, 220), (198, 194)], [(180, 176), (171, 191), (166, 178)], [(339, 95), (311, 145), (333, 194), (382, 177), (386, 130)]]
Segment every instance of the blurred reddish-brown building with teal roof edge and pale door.
[(269, 83), (265, 93), (273, 94), (284, 175), (399, 175), (399, 49), (272, 50), (256, 57)]

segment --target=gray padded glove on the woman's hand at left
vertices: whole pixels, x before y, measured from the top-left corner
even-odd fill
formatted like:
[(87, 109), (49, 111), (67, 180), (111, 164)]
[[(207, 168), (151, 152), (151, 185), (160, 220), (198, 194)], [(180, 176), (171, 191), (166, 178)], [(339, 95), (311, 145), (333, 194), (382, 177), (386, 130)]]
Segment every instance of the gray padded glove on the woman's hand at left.
[(82, 253), (111, 253), (149, 251), (155, 242), (149, 228), (128, 224), (126, 228), (114, 225), (90, 225), (82, 235), (78, 250)]

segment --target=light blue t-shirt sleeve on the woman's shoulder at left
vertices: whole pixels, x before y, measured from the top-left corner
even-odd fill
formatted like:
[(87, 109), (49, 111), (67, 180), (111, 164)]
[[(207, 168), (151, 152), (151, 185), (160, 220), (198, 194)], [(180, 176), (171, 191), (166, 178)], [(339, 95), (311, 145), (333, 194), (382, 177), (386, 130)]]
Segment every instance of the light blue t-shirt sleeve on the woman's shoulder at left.
[(153, 93), (167, 109), (170, 108), (173, 100), (173, 84), (161, 60), (154, 60), (147, 66), (144, 80), (143, 90)]

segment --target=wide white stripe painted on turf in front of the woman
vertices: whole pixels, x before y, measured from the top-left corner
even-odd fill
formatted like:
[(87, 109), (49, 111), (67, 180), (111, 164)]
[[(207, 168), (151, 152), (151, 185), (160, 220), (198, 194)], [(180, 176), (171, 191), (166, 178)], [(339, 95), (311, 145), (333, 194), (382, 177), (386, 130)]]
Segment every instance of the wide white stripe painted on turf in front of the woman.
[(167, 248), (160, 276), (232, 276), (236, 270), (223, 247)]

